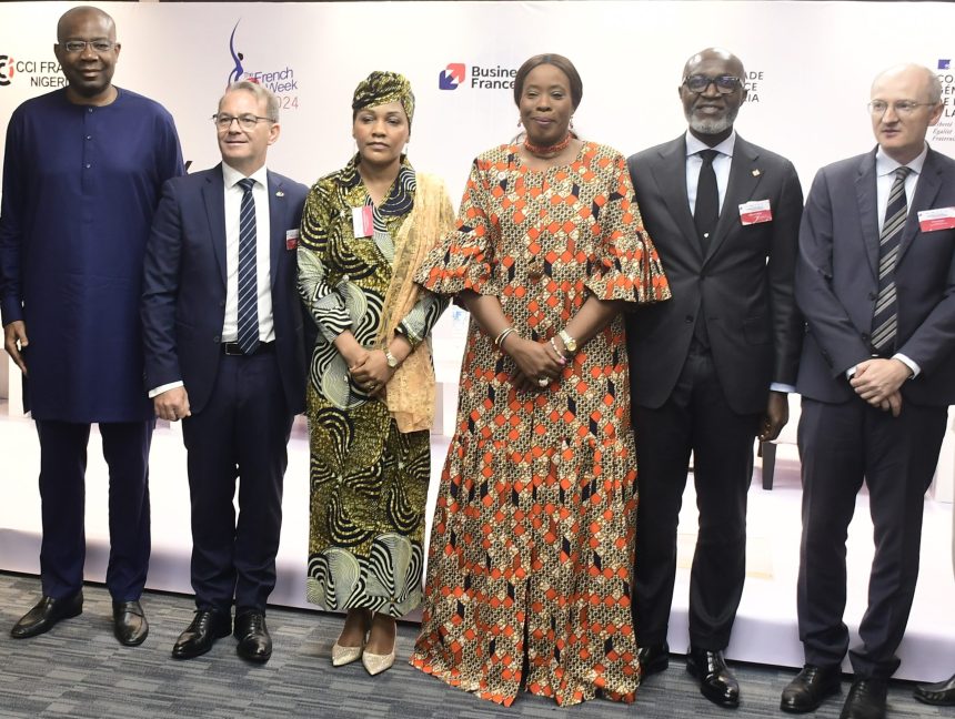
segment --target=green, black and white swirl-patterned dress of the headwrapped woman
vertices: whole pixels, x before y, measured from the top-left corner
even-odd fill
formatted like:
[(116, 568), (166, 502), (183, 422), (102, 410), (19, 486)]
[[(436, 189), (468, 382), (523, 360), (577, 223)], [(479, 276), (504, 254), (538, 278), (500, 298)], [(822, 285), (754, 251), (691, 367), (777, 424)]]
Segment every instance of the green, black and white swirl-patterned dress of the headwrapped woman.
[[(392, 279), (393, 237), (416, 184), (404, 163), (382, 204), (368, 195), (353, 159), (309, 193), (299, 286), (318, 324), (306, 394), (311, 435), (309, 601), (400, 617), (421, 601), (430, 433), (401, 433), (384, 403), (351, 382), (334, 338), (350, 330), (373, 347)], [(374, 233), (355, 239), (352, 207), (371, 205)], [(421, 342), (448, 301), (422, 293), (399, 332)]]

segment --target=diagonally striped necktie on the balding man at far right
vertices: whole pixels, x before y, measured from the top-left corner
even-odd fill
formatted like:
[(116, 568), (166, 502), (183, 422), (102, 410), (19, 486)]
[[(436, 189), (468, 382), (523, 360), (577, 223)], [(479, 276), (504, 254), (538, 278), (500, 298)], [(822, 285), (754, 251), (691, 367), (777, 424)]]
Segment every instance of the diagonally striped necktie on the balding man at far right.
[(895, 301), (895, 262), (898, 259), (898, 241), (908, 214), (905, 201), (905, 178), (912, 172), (906, 166), (895, 171), (895, 181), (885, 206), (885, 222), (878, 236), (878, 298), (872, 316), (872, 351), (884, 355), (895, 348), (895, 327), (898, 304)]

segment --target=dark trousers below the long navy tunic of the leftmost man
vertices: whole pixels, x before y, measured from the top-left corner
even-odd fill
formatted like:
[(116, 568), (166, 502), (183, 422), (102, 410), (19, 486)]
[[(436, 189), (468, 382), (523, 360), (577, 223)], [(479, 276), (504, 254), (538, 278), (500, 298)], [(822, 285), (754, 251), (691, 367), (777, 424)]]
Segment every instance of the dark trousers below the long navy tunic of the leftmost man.
[[(109, 466), (110, 558), (107, 587), (114, 601), (139, 599), (149, 570), (149, 447), (155, 422), (100, 423)], [(37, 421), (43, 594), (70, 597), (83, 586), (87, 556), (86, 473), (90, 425)]]

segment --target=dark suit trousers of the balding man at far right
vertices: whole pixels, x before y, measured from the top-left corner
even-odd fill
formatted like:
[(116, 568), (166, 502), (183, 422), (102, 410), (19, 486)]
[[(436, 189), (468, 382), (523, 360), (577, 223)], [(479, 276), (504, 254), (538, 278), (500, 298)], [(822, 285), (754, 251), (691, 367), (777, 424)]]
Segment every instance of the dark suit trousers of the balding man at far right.
[(800, 639), (806, 662), (832, 667), (848, 649), (846, 537), (863, 480), (868, 487), (875, 557), (862, 645), (850, 652), (860, 678), (885, 679), (898, 668), (922, 541), (925, 490), (932, 484), (947, 409), (904, 403), (902, 414), (853, 398), (803, 399), (800, 456), (803, 538), (800, 548)]

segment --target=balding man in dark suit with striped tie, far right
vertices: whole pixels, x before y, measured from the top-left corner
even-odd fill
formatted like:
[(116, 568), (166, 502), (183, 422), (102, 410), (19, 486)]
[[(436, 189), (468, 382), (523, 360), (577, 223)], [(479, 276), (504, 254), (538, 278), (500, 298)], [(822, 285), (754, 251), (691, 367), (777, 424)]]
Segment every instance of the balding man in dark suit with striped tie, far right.
[(843, 719), (885, 717), (918, 576), (922, 509), (955, 399), (955, 161), (925, 143), (942, 87), (902, 65), (872, 85), (878, 145), (820, 170), (800, 231), (803, 396), (800, 638), (783, 692), (813, 711), (840, 689), (848, 649), (845, 540), (863, 480), (874, 525), (868, 608)]

